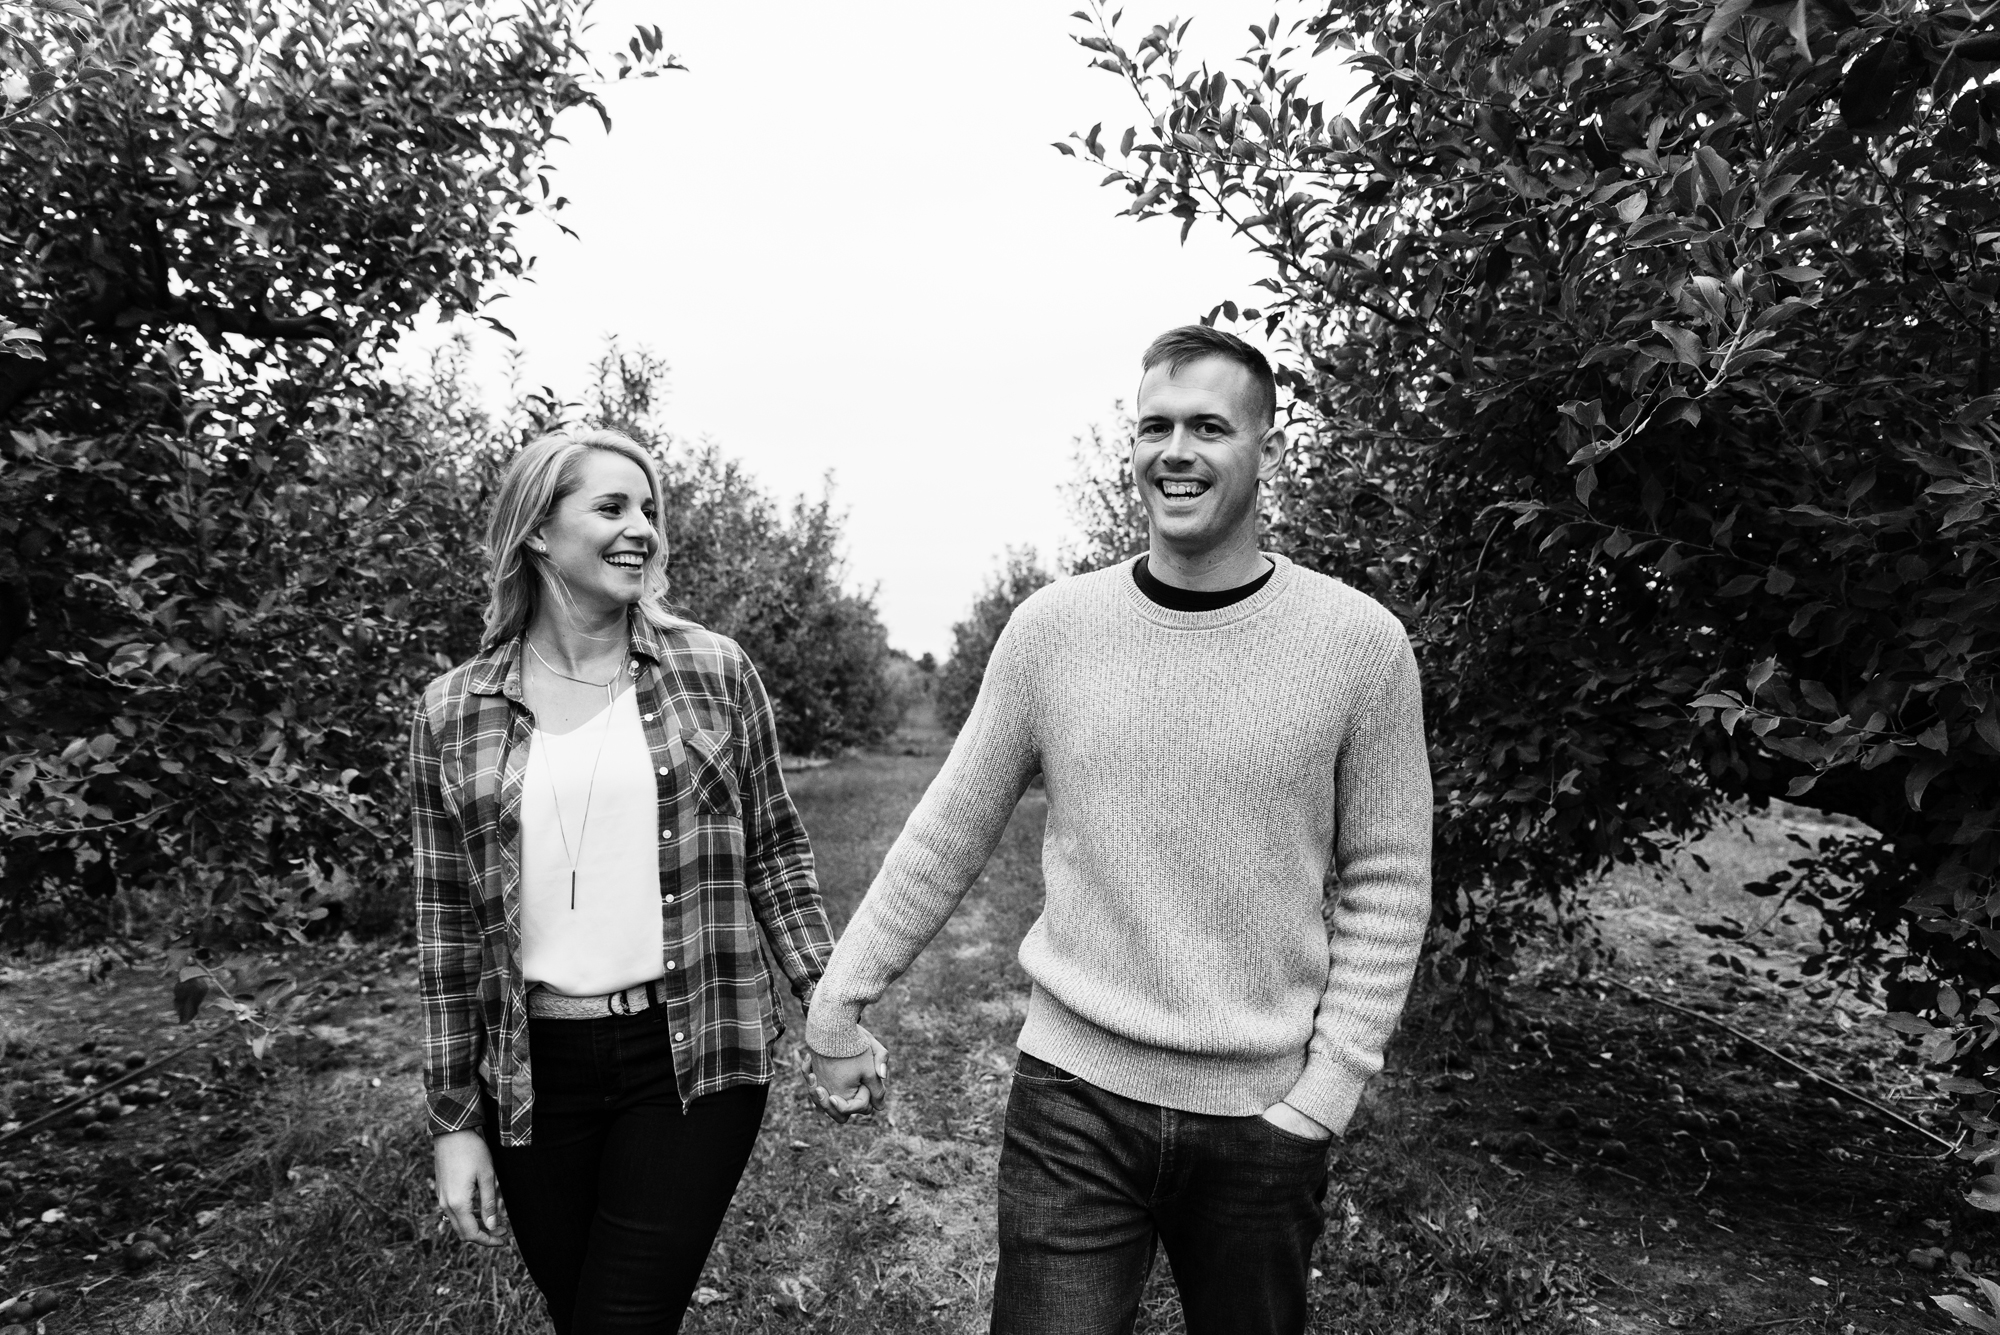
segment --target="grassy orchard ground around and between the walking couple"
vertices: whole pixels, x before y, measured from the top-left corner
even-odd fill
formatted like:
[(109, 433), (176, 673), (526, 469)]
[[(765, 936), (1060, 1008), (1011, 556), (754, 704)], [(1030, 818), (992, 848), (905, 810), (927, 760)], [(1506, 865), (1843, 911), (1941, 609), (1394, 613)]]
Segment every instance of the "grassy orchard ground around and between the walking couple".
[[(914, 731), (792, 775), (836, 925), (938, 763), (938, 737)], [(792, 1015), (788, 1071), (688, 1331), (984, 1329), (1042, 817), (1032, 791), (876, 1007), (894, 1053), (882, 1121), (808, 1113)], [(1676, 863), (1688, 885), (1608, 879), (1602, 947), (1524, 961), (1484, 1047), (1460, 1037), (1450, 989), (1420, 987), (1334, 1157), (1314, 1329), (1954, 1329), (1930, 1297), (2000, 1269), (1962, 1167), (1712, 1023), (1948, 1133), (1870, 1007), (1782, 985), (1810, 923), (1772, 921), (1750, 975), (1708, 963), (1694, 923), (1760, 919), (1736, 887), (1784, 861), (1788, 833), (1824, 831), (1752, 815)], [(48, 1335), (548, 1329), (512, 1255), (438, 1229), (408, 941), (318, 943), (302, 971), (322, 979), (306, 1033), (262, 1061), (216, 1037), (128, 1087), (112, 1119), (0, 1141), (0, 1301), (52, 1293), (32, 1319)], [(176, 1025), (166, 993), (144, 945), (6, 961), (0, 1125), (214, 1023)], [(1140, 1329), (1180, 1329), (1164, 1265)]]

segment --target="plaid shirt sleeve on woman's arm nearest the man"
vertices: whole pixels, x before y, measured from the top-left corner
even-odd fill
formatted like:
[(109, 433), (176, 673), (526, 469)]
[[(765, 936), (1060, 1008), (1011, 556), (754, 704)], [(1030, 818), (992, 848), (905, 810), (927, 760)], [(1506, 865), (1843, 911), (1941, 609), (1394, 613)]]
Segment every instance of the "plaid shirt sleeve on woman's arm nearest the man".
[(810, 1007), (812, 989), (834, 953), (834, 933), (826, 925), (806, 827), (778, 767), (778, 721), (770, 697), (756, 668), (748, 660), (742, 668), (738, 709), (744, 757), (738, 787), (748, 853), (744, 889), (792, 995)]

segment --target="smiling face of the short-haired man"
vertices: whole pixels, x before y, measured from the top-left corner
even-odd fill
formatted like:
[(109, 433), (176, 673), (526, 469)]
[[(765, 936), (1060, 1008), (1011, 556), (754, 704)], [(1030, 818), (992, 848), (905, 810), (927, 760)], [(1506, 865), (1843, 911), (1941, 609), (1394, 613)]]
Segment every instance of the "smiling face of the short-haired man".
[(1256, 542), (1256, 490), (1278, 472), (1284, 434), (1256, 378), (1228, 358), (1166, 362), (1138, 382), (1132, 482), (1156, 544), (1200, 560)]

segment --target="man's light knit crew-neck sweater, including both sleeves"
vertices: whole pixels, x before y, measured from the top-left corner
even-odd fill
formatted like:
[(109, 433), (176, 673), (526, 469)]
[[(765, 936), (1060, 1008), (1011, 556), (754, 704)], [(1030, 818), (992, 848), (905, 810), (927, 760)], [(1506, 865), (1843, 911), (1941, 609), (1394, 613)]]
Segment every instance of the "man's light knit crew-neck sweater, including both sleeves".
[(1020, 945), (1020, 1049), (1112, 1093), (1346, 1129), (1430, 915), (1416, 658), (1380, 604), (1284, 558), (1172, 612), (1132, 566), (1026, 600), (972, 715), (854, 911), (806, 1041), (910, 967), (1040, 771), (1046, 901)]

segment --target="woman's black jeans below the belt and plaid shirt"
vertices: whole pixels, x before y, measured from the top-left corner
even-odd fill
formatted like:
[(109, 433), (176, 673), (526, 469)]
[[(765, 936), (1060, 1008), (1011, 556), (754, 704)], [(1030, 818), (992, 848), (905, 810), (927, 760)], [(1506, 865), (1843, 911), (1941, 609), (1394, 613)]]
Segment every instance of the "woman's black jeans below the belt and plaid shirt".
[(558, 1335), (680, 1329), (736, 1195), (766, 1085), (680, 1107), (666, 1007), (530, 1019), (534, 1141), (486, 1143), (522, 1261)]

